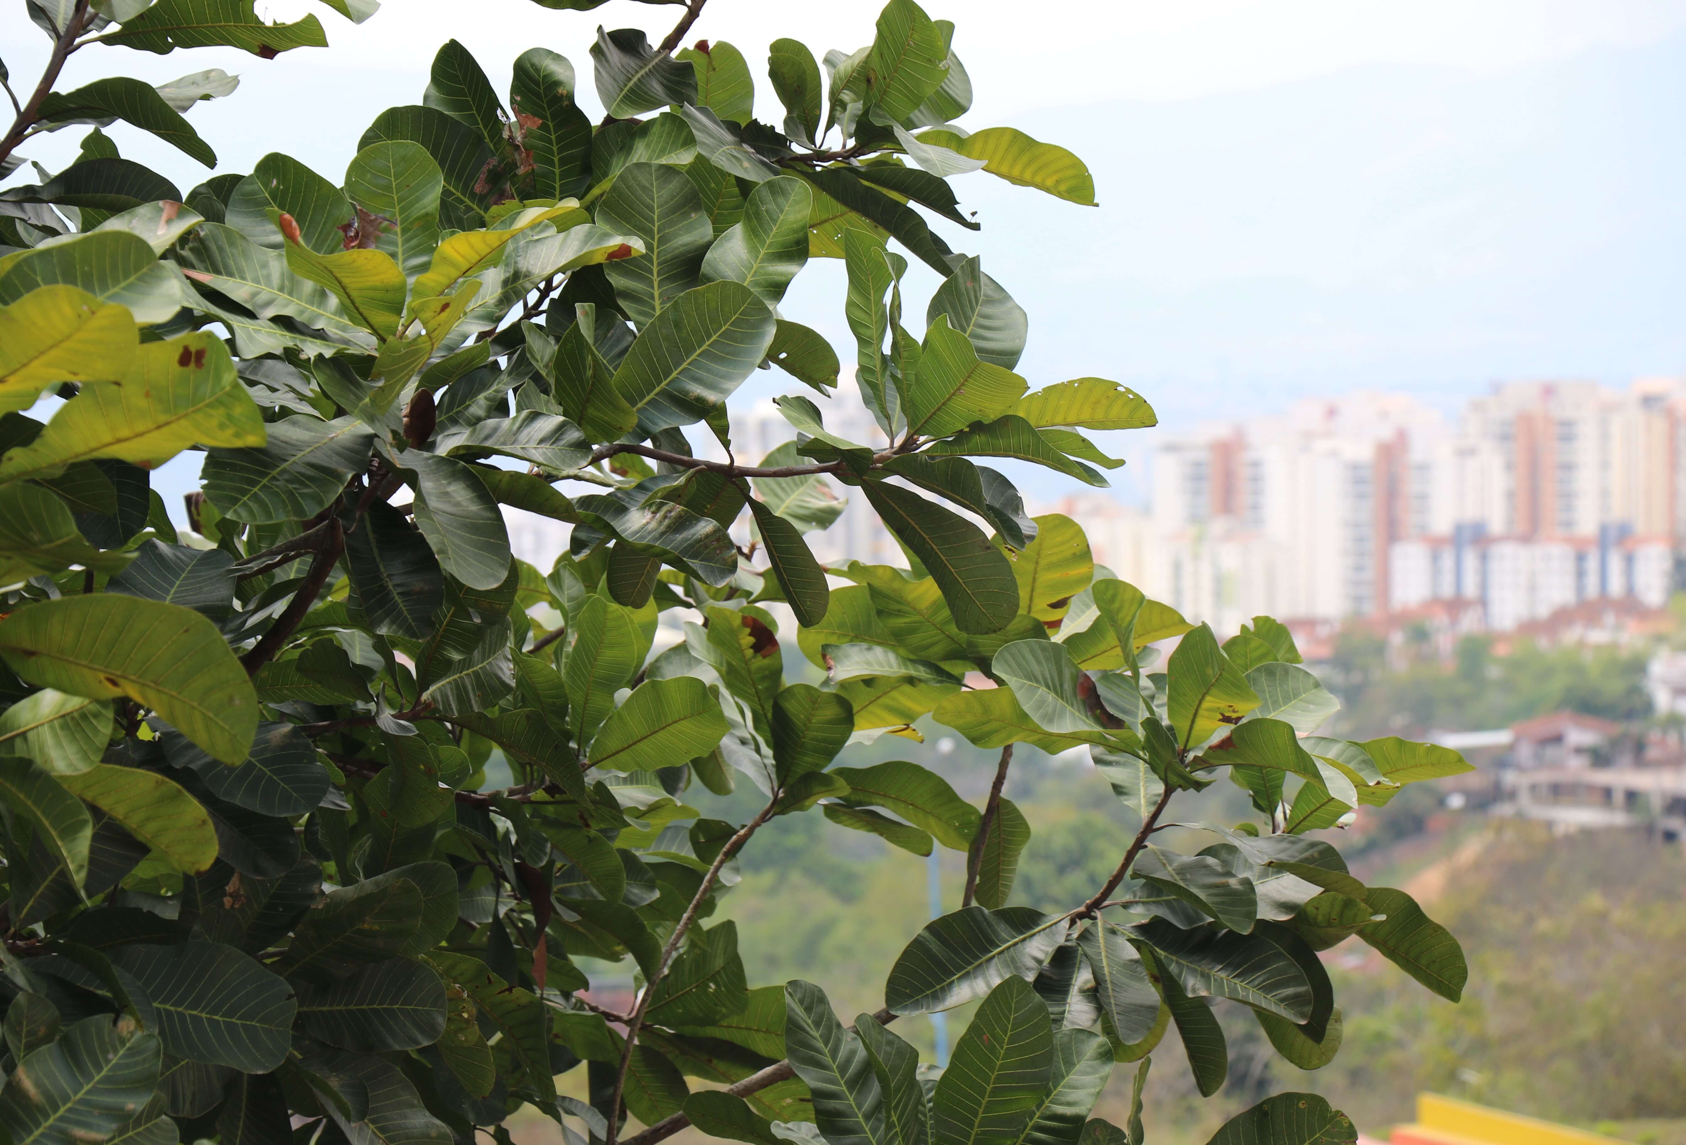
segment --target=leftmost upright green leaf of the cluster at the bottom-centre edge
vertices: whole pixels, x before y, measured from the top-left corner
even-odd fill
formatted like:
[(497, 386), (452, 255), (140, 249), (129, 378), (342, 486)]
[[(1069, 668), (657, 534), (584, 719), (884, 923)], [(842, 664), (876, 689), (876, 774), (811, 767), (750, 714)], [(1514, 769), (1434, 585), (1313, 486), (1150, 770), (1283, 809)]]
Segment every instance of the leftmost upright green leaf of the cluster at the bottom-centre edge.
[(885, 1145), (883, 1098), (867, 1049), (845, 1030), (824, 992), (809, 981), (784, 988), (784, 1044), (796, 1076), (814, 1094), (814, 1120), (831, 1145)]

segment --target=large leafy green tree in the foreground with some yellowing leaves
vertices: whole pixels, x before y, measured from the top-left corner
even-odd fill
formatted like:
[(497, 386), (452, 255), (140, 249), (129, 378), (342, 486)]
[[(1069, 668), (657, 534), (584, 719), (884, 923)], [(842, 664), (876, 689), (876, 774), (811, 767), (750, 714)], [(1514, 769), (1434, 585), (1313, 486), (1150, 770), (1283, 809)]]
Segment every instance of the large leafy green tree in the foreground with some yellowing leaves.
[[(324, 39), (251, 0), (29, 7), (54, 51), (8, 162), (118, 118), (214, 159), (180, 113), (229, 83), (52, 91), (91, 44)], [(1114, 1061), (1140, 1081), (1170, 1025), (1216, 1091), (1211, 998), (1297, 1064), (1334, 1056), (1317, 949), (1356, 934), (1458, 997), (1450, 934), (1313, 831), (1463, 761), (1310, 735), (1335, 703), (1286, 629), (1261, 617), (1219, 646), (985, 464), (1104, 484), (1094, 465), (1118, 462), (1082, 430), (1153, 425), (1098, 378), (1032, 391), (1023, 310), (921, 214), (975, 228), (948, 177), (978, 169), (1093, 202), (1082, 162), (953, 126), (971, 99), (954, 27), (912, 0), (830, 52), (824, 83), (777, 40), (777, 128), (750, 118), (740, 52), (674, 51), (701, 8), (656, 47), (599, 32), (599, 125), (561, 56), (523, 52), (506, 108), (452, 42), (342, 182), (266, 155), (180, 196), (96, 128), (76, 164), (0, 192), (13, 1145), (443, 1145), (501, 1137), (523, 1103), (604, 1145), (685, 1125), (760, 1145), (1140, 1142), (1140, 1118), (1086, 1123), (1094, 1096)], [(944, 277), (922, 336), (892, 248)], [(750, 371), (838, 383), (824, 339), (777, 310), (816, 256), (846, 266), (855, 378), (890, 443), (786, 396), (792, 440), (742, 464), (725, 411)], [(51, 420), (22, 413), (49, 390)], [(728, 460), (693, 455), (688, 427)], [(187, 536), (147, 479), (184, 449), (206, 450)], [(867, 497), (905, 568), (819, 567), (804, 535), (836, 518), (828, 482)], [(570, 553), (513, 560), (501, 506), (572, 524)], [(823, 685), (786, 681), (771, 602)], [(669, 609), (698, 621), (651, 656)], [(981, 808), (917, 762), (836, 764), (927, 717), (1000, 749)], [(1087, 747), (1138, 816), (1064, 914), (1008, 906), (1030, 838), (1001, 798), (1018, 744)], [(519, 782), (486, 786), (494, 754)], [(1259, 821), (1207, 828), (1199, 855), (1153, 843), (1226, 771)], [(764, 799), (747, 823), (683, 801), (738, 782)], [(804, 813), (966, 855), (961, 909), (853, 1027), (809, 983), (750, 988), (733, 926), (706, 922), (755, 831)], [(636, 966), (629, 1013), (580, 997), (580, 956)], [(968, 1002), (927, 1089), (890, 1024)], [(558, 1098), (582, 1064), (592, 1101)], [(1216, 1140), (1354, 1130), (1285, 1094)]]

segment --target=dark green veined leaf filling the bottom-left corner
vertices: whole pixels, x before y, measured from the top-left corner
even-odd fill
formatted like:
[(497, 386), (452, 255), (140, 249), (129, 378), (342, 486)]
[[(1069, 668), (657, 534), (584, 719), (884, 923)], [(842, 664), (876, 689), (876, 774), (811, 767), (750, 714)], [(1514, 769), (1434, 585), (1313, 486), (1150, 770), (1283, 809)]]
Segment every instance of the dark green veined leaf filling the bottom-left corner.
[(158, 1057), (157, 1035), (132, 1019), (83, 1019), (7, 1078), (0, 1126), (13, 1145), (103, 1142), (152, 1096)]

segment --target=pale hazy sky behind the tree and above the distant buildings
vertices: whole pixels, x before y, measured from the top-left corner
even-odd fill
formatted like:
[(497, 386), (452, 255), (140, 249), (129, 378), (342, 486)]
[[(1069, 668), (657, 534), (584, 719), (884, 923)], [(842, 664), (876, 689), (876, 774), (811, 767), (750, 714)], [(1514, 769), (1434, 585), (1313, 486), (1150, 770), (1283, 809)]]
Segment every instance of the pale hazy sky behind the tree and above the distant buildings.
[[(17, 15), (0, 22), (0, 59), (27, 89), (47, 39), (8, 2)], [(710, 0), (688, 39), (737, 44), (757, 73), (760, 118), (777, 121), (765, 42), (850, 51), (870, 42), (877, 10)], [(1679, 0), (934, 0), (927, 10), (959, 25), (954, 47), (978, 93), (966, 126), (1020, 126), (1076, 150), (1096, 175), (1098, 209), (966, 175), (956, 192), (985, 229), (939, 228), (1030, 310), (1020, 371), (1032, 384), (1126, 381), (1155, 401), (1165, 433), (1305, 393), (1406, 390), (1455, 408), (1502, 378), (1622, 384), (1686, 368)], [(560, 51), (595, 110), (597, 25), (644, 27), (654, 40), (678, 17), (631, 0), (583, 13), (389, 0), (361, 27), (305, 0), (260, 12), (315, 12), (332, 47), (275, 61), (89, 49), (72, 57), (67, 84), (224, 67), (241, 89), (191, 113), (217, 170), (283, 150), (337, 180), (379, 110), (420, 101), (448, 37), (499, 91), (523, 49)], [(111, 133), (182, 191), (212, 174), (132, 128)], [(54, 169), (79, 135), (27, 153)], [(915, 268), (914, 314), (932, 287)], [(841, 293), (841, 266), (826, 260), (784, 310), (850, 361)], [(744, 396), (789, 388), (760, 373)], [(1133, 462), (1152, 440), (1118, 437), (1109, 445)], [(1140, 470), (1120, 474), (1126, 496), (1140, 496), (1130, 476)]]

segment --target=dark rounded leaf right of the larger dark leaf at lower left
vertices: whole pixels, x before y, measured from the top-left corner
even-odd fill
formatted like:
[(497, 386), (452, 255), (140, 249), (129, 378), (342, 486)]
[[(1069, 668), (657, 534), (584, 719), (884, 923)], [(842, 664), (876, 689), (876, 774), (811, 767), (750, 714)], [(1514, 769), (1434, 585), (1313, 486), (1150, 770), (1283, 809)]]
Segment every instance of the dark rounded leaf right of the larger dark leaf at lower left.
[(298, 1022), (342, 1049), (420, 1049), (445, 1032), (445, 983), (408, 958), (373, 963), (324, 988), (300, 985)]

